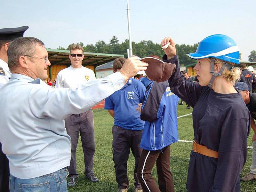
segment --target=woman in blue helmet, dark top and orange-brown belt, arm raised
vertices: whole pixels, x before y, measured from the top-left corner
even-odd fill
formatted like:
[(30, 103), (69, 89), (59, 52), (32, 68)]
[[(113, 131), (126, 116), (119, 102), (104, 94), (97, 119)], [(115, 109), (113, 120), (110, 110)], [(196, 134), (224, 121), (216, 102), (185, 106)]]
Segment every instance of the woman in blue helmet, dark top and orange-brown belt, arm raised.
[[(239, 49), (228, 36), (212, 35), (203, 39), (195, 53), (199, 83), (184, 81), (175, 43), (169, 43), (163, 60), (176, 64), (169, 79), (173, 93), (193, 110), (194, 141), (188, 166), (188, 192), (239, 192), (239, 174), (246, 161), (250, 113), (234, 88), (240, 77)], [(208, 85), (208, 86), (207, 86)]]

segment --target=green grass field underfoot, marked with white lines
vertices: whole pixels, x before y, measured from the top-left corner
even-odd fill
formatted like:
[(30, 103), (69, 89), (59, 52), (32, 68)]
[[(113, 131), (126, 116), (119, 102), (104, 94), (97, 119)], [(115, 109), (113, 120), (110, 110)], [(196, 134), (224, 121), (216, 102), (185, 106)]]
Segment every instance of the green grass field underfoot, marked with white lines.
[[(178, 105), (178, 116), (192, 113), (192, 109), (185, 109), (186, 105)], [(94, 111), (95, 143), (96, 152), (94, 156), (94, 173), (99, 177), (99, 182), (92, 183), (84, 177), (84, 155), (81, 141), (79, 140), (76, 152), (77, 172), (79, 177), (74, 188), (68, 188), (69, 192), (115, 192), (118, 185), (115, 178), (114, 163), (112, 161), (112, 126), (114, 119), (103, 109)], [(192, 115), (178, 119), (179, 139), (193, 140)], [(252, 132), (248, 138), (248, 146), (252, 146)], [(171, 147), (171, 171), (174, 180), (174, 188), (177, 192), (186, 192), (187, 170), (189, 154), (192, 148), (191, 143), (177, 142)], [(134, 157), (130, 153), (128, 160), (128, 177), (130, 181), (129, 192), (134, 191), (133, 169)], [(252, 163), (252, 149), (248, 149), (247, 161), (241, 173), (244, 176), (250, 170)], [(236, 167), (233, 167), (236, 169)], [(157, 181), (156, 167), (153, 169), (153, 176)], [(241, 183), (242, 192), (255, 192), (256, 180)]]

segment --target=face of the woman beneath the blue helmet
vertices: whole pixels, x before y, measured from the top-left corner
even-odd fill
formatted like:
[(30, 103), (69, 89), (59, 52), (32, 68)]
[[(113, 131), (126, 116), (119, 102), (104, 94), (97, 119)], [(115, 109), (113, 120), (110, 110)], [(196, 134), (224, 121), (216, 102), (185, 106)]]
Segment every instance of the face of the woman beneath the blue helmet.
[(212, 74), (211, 71), (211, 62), (207, 59), (198, 59), (196, 66), (194, 67), (196, 74), (198, 75), (197, 79), (201, 86), (206, 86), (210, 83)]

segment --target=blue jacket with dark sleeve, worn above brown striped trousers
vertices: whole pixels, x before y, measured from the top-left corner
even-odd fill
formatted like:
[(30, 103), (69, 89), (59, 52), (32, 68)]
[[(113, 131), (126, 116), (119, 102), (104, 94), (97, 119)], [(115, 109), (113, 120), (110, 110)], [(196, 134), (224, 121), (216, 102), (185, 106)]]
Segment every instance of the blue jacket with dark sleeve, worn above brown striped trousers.
[(168, 81), (151, 82), (141, 107), (141, 120), (145, 120), (140, 147), (155, 151), (179, 140), (177, 104), (179, 98), (171, 92)]

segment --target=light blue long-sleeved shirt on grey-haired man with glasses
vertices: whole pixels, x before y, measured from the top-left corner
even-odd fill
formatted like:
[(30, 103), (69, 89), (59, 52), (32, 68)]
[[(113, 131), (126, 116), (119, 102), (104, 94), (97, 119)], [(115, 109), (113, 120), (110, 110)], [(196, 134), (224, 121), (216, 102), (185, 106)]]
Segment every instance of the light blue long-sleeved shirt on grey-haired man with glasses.
[(64, 119), (84, 113), (123, 86), (119, 72), (70, 90), (12, 74), (0, 91), (0, 142), (10, 173), (29, 179), (68, 166), (71, 147)]

